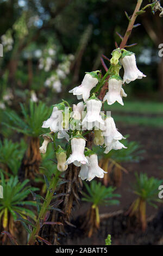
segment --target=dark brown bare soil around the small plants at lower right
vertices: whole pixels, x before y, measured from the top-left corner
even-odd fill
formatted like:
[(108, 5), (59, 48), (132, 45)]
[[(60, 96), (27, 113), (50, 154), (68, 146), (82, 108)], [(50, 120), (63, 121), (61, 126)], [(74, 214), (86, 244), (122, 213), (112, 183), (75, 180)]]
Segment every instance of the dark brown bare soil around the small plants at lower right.
[[(131, 184), (135, 181), (135, 172), (145, 172), (148, 176), (154, 176), (163, 179), (163, 129), (156, 129), (145, 126), (124, 126), (118, 124), (119, 131), (123, 134), (129, 134), (129, 141), (137, 141), (146, 150), (143, 153), (143, 160), (139, 163), (123, 163), (129, 173), (123, 173), (122, 185), (117, 189), (117, 193), (121, 194), (120, 205), (118, 206), (102, 206), (100, 214), (114, 212), (120, 209), (129, 208), (129, 205), (136, 198), (131, 192)], [(162, 199), (163, 202), (163, 199)], [(124, 214), (110, 217), (101, 222), (99, 232), (94, 234), (90, 239), (84, 237), (82, 230), (79, 229), (81, 216), (84, 216), (89, 204), (82, 203), (79, 209), (74, 209), (72, 222), (76, 224), (75, 228), (67, 228), (71, 231), (67, 238), (61, 241), (64, 245), (103, 245), (104, 239), (108, 234), (112, 236), (112, 244), (114, 245), (147, 245), (147, 244), (163, 244), (163, 209), (156, 210), (152, 206), (147, 206), (147, 217), (154, 219), (148, 223), (145, 233), (142, 233), (140, 227), (133, 226), (129, 223), (128, 217)], [(80, 218), (79, 218), (80, 216)]]

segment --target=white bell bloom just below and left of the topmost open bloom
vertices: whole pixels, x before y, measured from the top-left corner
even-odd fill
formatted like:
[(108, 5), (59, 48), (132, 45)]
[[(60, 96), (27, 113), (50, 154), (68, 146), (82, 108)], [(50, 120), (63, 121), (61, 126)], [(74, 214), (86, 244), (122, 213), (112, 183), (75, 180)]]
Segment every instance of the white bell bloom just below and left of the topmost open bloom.
[(115, 78), (110, 78), (108, 82), (108, 93), (104, 96), (103, 101), (107, 100), (108, 105), (112, 105), (115, 101), (123, 104), (122, 96), (121, 96), (121, 89), (122, 89), (122, 80), (117, 80)]

